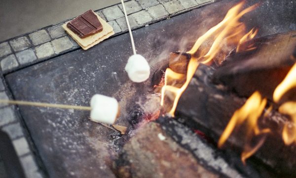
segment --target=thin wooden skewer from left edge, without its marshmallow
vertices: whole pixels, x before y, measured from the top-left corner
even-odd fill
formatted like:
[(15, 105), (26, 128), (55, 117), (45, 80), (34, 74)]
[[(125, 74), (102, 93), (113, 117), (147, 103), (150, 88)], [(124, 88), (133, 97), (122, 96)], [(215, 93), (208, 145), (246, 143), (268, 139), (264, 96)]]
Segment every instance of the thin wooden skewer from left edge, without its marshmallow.
[(0, 99), (0, 103), (18, 104), (18, 105), (27, 105), (27, 106), (37, 106), (37, 107), (52, 107), (52, 108), (62, 108), (62, 109), (78, 109), (78, 110), (88, 110), (88, 111), (91, 110), (91, 107), (89, 107), (89, 106), (75, 106), (75, 105), (67, 105), (67, 104), (51, 104), (51, 103), (8, 100), (8, 99)]

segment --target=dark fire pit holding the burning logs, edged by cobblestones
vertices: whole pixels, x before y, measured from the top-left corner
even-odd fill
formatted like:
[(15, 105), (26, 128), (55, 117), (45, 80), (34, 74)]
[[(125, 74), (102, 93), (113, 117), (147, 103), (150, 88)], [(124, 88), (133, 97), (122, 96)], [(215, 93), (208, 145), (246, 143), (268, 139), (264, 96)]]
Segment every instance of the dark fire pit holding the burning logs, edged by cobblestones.
[[(230, 137), (225, 149), (217, 147), (233, 113), (253, 93), (239, 92), (244, 84), (233, 86), (238, 82), (229, 82), (232, 79), (229, 76), (236, 73), (229, 72), (227, 65), (239, 65), (231, 63), (237, 56), (232, 48), (223, 57), (226, 60), (222, 67), (200, 64), (193, 71), (176, 112), (171, 112), (175, 118), (161, 115), (166, 113), (166, 108), (160, 106), (162, 84), (159, 83), (165, 68), (169, 67), (170, 53), (181, 51), (174, 55), (185, 55), (180, 63), (183, 69), (182, 64), (191, 56), (182, 52), (189, 51), (196, 40), (221, 22), (238, 2), (222, 0), (135, 30), (137, 52), (148, 59), (151, 67), (151, 76), (144, 83), (132, 83), (124, 72), (131, 54), (128, 34), (113, 37), (86, 51), (69, 51), (7, 73), (5, 81), (17, 100), (87, 106), (90, 97), (100, 93), (113, 96), (119, 102), (121, 115), (116, 124), (128, 127), (126, 135), (91, 122), (85, 111), (18, 106), (45, 174), (90, 178), (295, 177), (295, 148), (285, 146), (276, 135), (264, 138), (266, 145), (261, 144), (262, 149), (245, 165), (239, 155), (244, 150), (240, 137)], [(243, 6), (248, 8), (255, 3), (250, 0)], [(247, 32), (253, 27), (259, 29), (256, 39), (261, 39), (260, 43), (268, 45), (274, 38), (266, 40), (265, 36), (285, 32), (289, 32), (290, 41), (295, 41), (296, 32), (291, 32), (296, 30), (295, 9), (293, 1), (265, 0), (243, 15), (240, 22), (246, 25)], [(295, 44), (292, 45), (295, 49)], [(287, 65), (294, 64), (293, 60), (295, 63), (295, 59), (291, 59)], [(273, 66), (273, 69), (279, 68)], [(279, 114), (277, 107), (271, 113), (272, 126), (279, 123), (278, 117), (285, 121), (288, 118)]]

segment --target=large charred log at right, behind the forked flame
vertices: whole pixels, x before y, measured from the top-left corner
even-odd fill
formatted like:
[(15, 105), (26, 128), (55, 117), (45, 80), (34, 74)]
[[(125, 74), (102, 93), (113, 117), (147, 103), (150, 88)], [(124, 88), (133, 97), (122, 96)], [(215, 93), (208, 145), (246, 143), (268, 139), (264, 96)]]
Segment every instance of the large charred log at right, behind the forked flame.
[[(296, 62), (296, 31), (262, 37), (243, 46), (251, 44), (256, 49), (228, 55), (215, 71), (214, 81), (222, 82), (239, 96), (249, 97), (258, 90), (272, 100), (274, 89)], [(287, 93), (283, 101), (296, 100), (296, 95), (291, 93), (295, 93), (295, 89)]]

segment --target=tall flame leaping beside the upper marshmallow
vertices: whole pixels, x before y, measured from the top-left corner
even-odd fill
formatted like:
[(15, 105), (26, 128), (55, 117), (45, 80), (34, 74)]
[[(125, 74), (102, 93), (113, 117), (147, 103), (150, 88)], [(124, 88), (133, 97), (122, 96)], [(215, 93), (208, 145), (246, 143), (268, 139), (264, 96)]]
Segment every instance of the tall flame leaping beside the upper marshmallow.
[[(244, 5), (244, 1), (238, 3), (234, 7), (232, 7), (230, 10), (228, 10), (226, 16), (224, 19), (216, 26), (212, 27), (210, 30), (208, 30), (204, 35), (199, 37), (193, 47), (187, 51), (187, 53), (191, 54), (190, 61), (188, 63), (187, 67), (187, 74), (178, 74), (171, 69), (167, 69), (165, 73), (165, 85), (162, 88), (162, 95), (161, 95), (161, 105), (164, 105), (164, 99), (167, 93), (172, 93), (173, 97), (173, 105), (168, 112), (171, 116), (174, 116), (176, 107), (178, 105), (178, 101), (182, 95), (182, 93), (187, 88), (190, 80), (192, 79), (198, 65), (200, 63), (210, 65), (213, 60), (222, 60), (222, 59), (216, 59), (218, 54), (220, 55), (223, 53), (222, 45), (225, 44), (226, 46), (229, 44), (238, 45), (241, 39), (244, 37), (243, 32), (245, 31), (245, 25), (241, 22), (239, 22), (239, 19), (246, 13), (252, 11), (256, 8), (257, 4), (252, 5), (246, 9), (242, 9)], [(245, 37), (243, 41), (246, 41), (247, 39), (254, 38), (254, 35), (248, 35)], [(205, 49), (201, 47), (203, 43), (215, 39), (212, 43), (212, 46), (209, 49)], [(195, 56), (194, 54), (197, 51), (201, 51), (200, 55)], [(219, 62), (220, 63), (220, 62)], [(180, 87), (178, 85), (174, 85), (172, 81), (175, 80), (184, 80), (185, 82)], [(172, 84), (172, 85), (171, 85)], [(171, 95), (169, 95), (171, 96)], [(171, 97), (170, 97), (171, 98)]]

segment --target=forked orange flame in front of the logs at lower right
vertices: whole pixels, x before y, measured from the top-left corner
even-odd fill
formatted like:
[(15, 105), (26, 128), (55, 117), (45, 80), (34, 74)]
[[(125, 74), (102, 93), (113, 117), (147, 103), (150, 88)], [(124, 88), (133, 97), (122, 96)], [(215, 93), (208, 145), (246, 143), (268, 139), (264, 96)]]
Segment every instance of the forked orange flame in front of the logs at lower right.
[(254, 92), (252, 96), (246, 101), (246, 103), (240, 109), (234, 112), (226, 129), (219, 139), (218, 146), (222, 147), (226, 139), (233, 132), (234, 128), (240, 127), (244, 122), (246, 122), (248, 128), (246, 133), (245, 150), (241, 156), (242, 161), (245, 162), (247, 158), (252, 156), (260, 148), (265, 139), (265, 137), (263, 137), (263, 139), (261, 139), (257, 145), (251, 147), (250, 142), (252, 137), (270, 132), (269, 129), (259, 129), (257, 125), (257, 121), (261, 116), (266, 103), (266, 98), (262, 98), (258, 91)]

